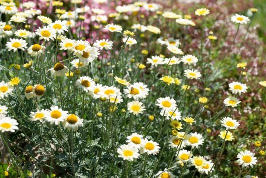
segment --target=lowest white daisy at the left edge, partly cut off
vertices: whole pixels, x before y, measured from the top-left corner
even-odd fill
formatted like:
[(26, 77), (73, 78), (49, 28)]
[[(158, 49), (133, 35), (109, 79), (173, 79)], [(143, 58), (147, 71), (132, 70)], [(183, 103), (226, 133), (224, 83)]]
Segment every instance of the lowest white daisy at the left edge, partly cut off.
[(0, 119), (0, 131), (1, 132), (15, 132), (18, 130), (19, 123), (15, 119), (11, 119), (10, 117), (6, 117), (5, 115), (1, 115)]

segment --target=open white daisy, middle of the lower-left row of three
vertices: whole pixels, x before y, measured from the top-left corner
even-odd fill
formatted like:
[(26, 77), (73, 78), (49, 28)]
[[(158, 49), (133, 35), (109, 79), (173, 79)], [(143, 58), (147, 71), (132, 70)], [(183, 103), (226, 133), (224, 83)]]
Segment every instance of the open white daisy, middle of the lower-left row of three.
[(45, 111), (45, 120), (50, 124), (59, 125), (65, 121), (68, 116), (67, 113), (67, 111), (59, 109), (58, 106), (52, 106), (50, 110)]

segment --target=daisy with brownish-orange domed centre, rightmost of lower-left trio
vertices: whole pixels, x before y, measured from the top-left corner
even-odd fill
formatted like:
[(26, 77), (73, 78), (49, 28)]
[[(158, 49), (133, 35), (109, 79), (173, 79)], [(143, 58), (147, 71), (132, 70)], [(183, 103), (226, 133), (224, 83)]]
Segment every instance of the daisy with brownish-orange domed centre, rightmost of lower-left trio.
[(77, 115), (69, 114), (65, 118), (65, 121), (63, 122), (63, 126), (67, 130), (77, 131), (79, 127), (83, 127), (83, 119), (80, 119)]

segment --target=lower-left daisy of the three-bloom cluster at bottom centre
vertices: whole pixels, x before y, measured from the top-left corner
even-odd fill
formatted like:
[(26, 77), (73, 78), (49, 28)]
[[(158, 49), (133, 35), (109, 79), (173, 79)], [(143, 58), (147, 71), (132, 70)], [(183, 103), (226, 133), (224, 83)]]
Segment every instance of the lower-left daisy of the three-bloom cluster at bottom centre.
[(137, 159), (140, 156), (138, 148), (131, 144), (121, 145), (117, 149), (117, 153), (119, 154), (118, 157), (121, 157), (123, 158), (123, 160), (128, 161), (133, 161), (134, 159)]

